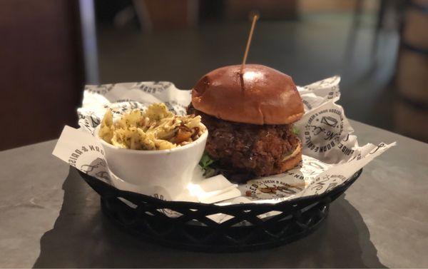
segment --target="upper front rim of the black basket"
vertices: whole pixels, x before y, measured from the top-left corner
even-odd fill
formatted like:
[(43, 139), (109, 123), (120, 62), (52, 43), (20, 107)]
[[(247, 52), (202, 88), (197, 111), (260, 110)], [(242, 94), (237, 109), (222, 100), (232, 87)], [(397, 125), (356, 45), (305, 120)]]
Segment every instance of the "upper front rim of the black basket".
[[(362, 174), (362, 168), (355, 172), (350, 178), (347, 178), (347, 180), (343, 183), (341, 183), (340, 185), (336, 186), (335, 188), (332, 188), (329, 191), (326, 191), (325, 193), (321, 193), (319, 195), (312, 195), (312, 196), (305, 196), (305, 197), (298, 197), (298, 198), (292, 198), (290, 200), (286, 200), (286, 201), (281, 201), (278, 203), (237, 203), (237, 204), (232, 204), (232, 205), (216, 205), (214, 203), (198, 203), (198, 202), (189, 202), (189, 201), (165, 201), (165, 200), (161, 200), (159, 198), (156, 197), (152, 197), (152, 196), (147, 196), (145, 194), (141, 194), (141, 193), (134, 193), (131, 191), (123, 191), (120, 190), (114, 186), (111, 186), (110, 184), (103, 182), (101, 180), (99, 180), (98, 178), (95, 178), (93, 176), (88, 175), (87, 173), (83, 173), (82, 171), (78, 170), (77, 168), (76, 171), (78, 171), (79, 175), (81, 176), (81, 178), (83, 178), (84, 181), (86, 181), (86, 183), (88, 183), (89, 186), (91, 186), (91, 188), (94, 189), (94, 191), (96, 191), (96, 187), (94, 185), (98, 185), (104, 188), (108, 188), (109, 191), (114, 192), (116, 197), (123, 197), (126, 198), (126, 196), (132, 196), (133, 198), (136, 198), (136, 200), (139, 201), (143, 201), (145, 203), (156, 203), (159, 208), (175, 208), (175, 207), (186, 207), (186, 208), (192, 208), (195, 210), (198, 210), (200, 208), (203, 208), (204, 210), (212, 210), (213, 212), (218, 212), (218, 213), (227, 213), (225, 211), (227, 210), (236, 210), (238, 208), (242, 209), (242, 210), (247, 210), (247, 209), (260, 209), (263, 210), (263, 208), (270, 208), (271, 210), (275, 210), (275, 208), (283, 208), (285, 206), (296, 206), (297, 204), (305, 204), (305, 205), (309, 205), (311, 203), (316, 203), (319, 201), (324, 200), (325, 198), (328, 198), (332, 195), (334, 195), (335, 193), (341, 193), (343, 191), (346, 191), (347, 188), (349, 188), (352, 183), (354, 183), (357, 178), (359, 178)], [(99, 193), (98, 191), (96, 191), (101, 197), (104, 197), (106, 195), (103, 195), (101, 193)]]

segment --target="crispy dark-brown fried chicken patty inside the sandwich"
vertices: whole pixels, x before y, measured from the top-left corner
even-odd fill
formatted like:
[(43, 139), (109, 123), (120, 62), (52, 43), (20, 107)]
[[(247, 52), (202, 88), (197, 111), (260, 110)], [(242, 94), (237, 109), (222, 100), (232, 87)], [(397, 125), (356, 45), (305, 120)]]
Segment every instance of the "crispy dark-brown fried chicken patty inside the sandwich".
[(280, 173), (280, 163), (300, 143), (292, 124), (255, 125), (223, 121), (196, 110), (190, 104), (188, 113), (200, 115), (208, 128), (205, 151), (221, 166), (242, 168), (256, 176)]

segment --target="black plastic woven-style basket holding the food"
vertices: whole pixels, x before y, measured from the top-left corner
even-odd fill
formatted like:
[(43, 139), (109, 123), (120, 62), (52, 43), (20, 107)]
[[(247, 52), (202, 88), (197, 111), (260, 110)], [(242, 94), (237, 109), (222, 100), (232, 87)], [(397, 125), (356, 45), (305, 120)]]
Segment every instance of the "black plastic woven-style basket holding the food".
[[(330, 203), (357, 180), (362, 169), (345, 183), (321, 195), (275, 204), (236, 205), (163, 201), (121, 191), (86, 173), (79, 173), (101, 196), (103, 213), (139, 238), (181, 249), (237, 252), (272, 248), (309, 235), (327, 218)], [(272, 212), (276, 215), (260, 217)], [(228, 215), (229, 219), (217, 223), (208, 218), (218, 213)]]

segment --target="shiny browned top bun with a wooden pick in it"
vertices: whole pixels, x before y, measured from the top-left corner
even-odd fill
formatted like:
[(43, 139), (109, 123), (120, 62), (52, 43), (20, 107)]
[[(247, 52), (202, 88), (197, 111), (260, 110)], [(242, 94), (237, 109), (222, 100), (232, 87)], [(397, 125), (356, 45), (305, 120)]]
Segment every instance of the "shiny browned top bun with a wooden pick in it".
[(290, 76), (259, 64), (225, 66), (207, 73), (193, 87), (192, 104), (225, 121), (289, 124), (299, 120), (303, 103)]

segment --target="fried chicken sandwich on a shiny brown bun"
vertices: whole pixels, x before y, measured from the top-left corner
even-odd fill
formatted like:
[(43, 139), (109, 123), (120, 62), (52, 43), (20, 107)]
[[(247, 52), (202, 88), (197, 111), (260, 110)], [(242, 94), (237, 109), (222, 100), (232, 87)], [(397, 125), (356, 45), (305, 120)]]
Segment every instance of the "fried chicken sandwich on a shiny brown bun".
[(303, 103), (290, 76), (258, 65), (225, 66), (192, 89), (188, 113), (208, 128), (205, 152), (235, 181), (284, 173), (302, 160), (293, 129)]

